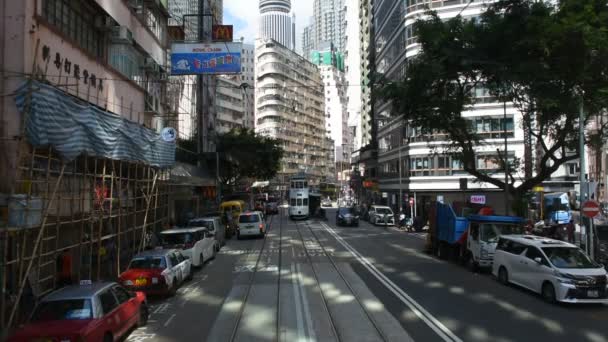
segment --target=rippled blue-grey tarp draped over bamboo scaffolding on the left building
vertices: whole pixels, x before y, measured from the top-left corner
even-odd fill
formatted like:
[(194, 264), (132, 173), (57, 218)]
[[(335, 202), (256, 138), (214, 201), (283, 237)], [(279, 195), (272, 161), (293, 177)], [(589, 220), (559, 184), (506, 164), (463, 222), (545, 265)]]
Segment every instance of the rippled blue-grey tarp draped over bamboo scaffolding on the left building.
[[(28, 89), (26, 81), (16, 92), (15, 102), (21, 113), (28, 101)], [(31, 89), (25, 132), (33, 146), (50, 146), (67, 161), (86, 153), (160, 168), (175, 163), (175, 142), (164, 141), (155, 131), (51, 85), (33, 81)]]

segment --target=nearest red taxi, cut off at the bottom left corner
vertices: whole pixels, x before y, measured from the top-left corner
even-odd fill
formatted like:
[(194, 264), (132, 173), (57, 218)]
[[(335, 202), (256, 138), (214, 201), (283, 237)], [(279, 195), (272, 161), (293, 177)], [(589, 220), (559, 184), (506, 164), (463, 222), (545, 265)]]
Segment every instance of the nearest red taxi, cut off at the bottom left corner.
[(72, 285), (44, 297), (8, 341), (117, 341), (147, 321), (144, 293), (114, 282)]

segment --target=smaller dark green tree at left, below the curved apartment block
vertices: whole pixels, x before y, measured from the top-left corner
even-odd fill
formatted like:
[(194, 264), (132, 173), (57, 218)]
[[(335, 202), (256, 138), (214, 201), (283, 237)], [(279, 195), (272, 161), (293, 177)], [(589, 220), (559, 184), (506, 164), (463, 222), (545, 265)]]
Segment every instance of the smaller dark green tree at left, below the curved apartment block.
[(253, 130), (231, 130), (218, 138), (220, 180), (234, 186), (243, 178), (269, 180), (276, 176), (283, 158), (277, 139), (255, 134)]

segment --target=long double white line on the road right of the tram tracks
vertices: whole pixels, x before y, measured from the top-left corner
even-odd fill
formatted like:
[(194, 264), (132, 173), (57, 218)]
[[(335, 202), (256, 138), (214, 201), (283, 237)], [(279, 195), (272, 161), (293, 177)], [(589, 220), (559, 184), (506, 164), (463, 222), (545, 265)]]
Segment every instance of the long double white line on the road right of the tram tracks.
[(441, 321), (435, 318), (431, 313), (429, 313), (422, 305), (416, 302), (412, 297), (410, 297), (407, 293), (405, 293), (399, 286), (393, 283), (384, 273), (380, 272), (366, 257), (362, 256), (356, 249), (354, 249), (348, 242), (344, 241), (341, 236), (339, 236), (331, 227), (329, 227), (325, 222), (320, 222), (321, 226), (329, 232), (334, 238), (348, 251), (350, 251), (363, 265), (367, 268), (368, 271), (372, 275), (378, 279), (389, 291), (391, 291), (397, 298), (401, 300), (401, 302), (407, 305), (416, 316), (418, 316), (426, 325), (428, 325), (439, 337), (441, 337), (446, 342), (462, 342), (462, 340), (456, 336), (450, 329), (448, 329)]

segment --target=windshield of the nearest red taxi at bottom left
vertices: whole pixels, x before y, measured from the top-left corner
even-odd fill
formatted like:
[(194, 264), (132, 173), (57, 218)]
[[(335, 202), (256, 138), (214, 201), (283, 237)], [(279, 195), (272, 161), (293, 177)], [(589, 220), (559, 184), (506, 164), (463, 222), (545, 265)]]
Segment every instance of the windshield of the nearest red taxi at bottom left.
[(65, 299), (41, 302), (32, 315), (32, 322), (92, 319), (89, 299)]

